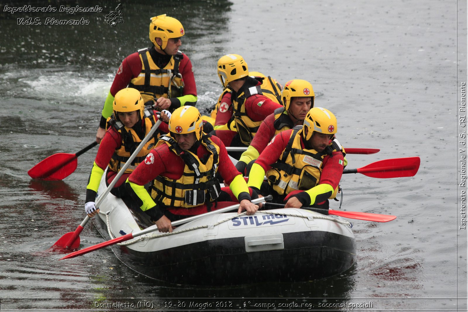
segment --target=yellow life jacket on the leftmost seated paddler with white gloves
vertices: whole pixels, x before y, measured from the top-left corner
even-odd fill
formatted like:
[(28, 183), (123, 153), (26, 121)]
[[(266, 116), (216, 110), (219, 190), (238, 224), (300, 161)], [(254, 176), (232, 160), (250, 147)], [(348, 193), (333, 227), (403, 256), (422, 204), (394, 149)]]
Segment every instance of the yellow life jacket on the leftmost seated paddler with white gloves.
[[(145, 138), (155, 123), (155, 117), (153, 109), (145, 109), (143, 112), (143, 120), (145, 121), (145, 133), (143, 135), (143, 138)], [(107, 119), (107, 124), (109, 124), (111, 119), (113, 119), (113, 116)], [(135, 151), (135, 149), (138, 147), (143, 138), (139, 138), (135, 130), (133, 130), (132, 128), (126, 128), (124, 124), (120, 121), (115, 120), (112, 126), (115, 130), (120, 132), (120, 136), (122, 137), (122, 145), (120, 145), (119, 149), (115, 150), (109, 162), (110, 170), (118, 172), (120, 168), (122, 168), (125, 165), (125, 162), (127, 162), (127, 160), (132, 155), (133, 151)], [(145, 160), (146, 155), (149, 153), (149, 151), (151, 151), (152, 148), (154, 148), (154, 138), (156, 138), (157, 135), (158, 132), (155, 132), (154, 136), (150, 138), (148, 142), (146, 142), (146, 144), (140, 150), (135, 159), (132, 160), (132, 164), (125, 170), (125, 172), (132, 172), (133, 170), (135, 170), (135, 168), (140, 162)]]

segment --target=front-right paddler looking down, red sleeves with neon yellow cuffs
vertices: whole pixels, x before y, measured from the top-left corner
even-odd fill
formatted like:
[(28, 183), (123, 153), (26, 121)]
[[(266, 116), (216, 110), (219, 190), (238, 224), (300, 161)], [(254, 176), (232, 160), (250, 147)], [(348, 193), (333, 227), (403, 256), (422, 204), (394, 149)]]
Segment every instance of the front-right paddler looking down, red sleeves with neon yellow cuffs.
[(250, 170), (249, 187), (272, 194), (285, 208), (328, 209), (344, 168), (337, 130), (336, 117), (328, 109), (310, 109), (303, 126), (280, 132), (263, 150)]

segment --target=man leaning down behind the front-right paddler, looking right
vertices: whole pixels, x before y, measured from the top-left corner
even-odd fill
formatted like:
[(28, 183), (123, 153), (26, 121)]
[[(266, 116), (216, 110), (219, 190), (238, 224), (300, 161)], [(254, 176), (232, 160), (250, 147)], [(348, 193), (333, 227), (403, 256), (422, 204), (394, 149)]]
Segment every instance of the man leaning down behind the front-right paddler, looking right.
[(252, 143), (247, 150), (242, 153), (241, 158), (236, 164), (237, 170), (240, 173), (249, 175), (249, 168), (246, 172), (246, 167), (253, 162), (263, 152), (268, 142), (281, 131), (286, 131), (294, 128), (294, 126), (302, 125), (307, 112), (314, 107), (314, 89), (310, 82), (302, 79), (294, 79), (286, 82), (285, 87), (281, 90), (281, 98), (283, 107), (275, 109), (275, 111), (265, 118), (260, 128), (252, 139)]

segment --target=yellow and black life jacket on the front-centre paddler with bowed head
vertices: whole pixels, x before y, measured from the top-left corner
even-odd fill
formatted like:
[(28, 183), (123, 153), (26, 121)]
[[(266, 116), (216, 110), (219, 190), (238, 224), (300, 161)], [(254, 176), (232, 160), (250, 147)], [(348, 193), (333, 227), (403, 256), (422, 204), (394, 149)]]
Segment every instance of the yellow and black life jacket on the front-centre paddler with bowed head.
[(209, 157), (200, 160), (190, 151), (183, 151), (174, 138), (164, 135), (156, 146), (167, 144), (169, 149), (185, 162), (183, 174), (178, 180), (165, 176), (154, 179), (151, 197), (156, 203), (168, 207), (196, 207), (215, 201), (220, 192), (219, 181), (215, 178), (219, 163), (219, 146), (213, 143), (211, 135), (204, 135), (201, 144), (206, 147)]

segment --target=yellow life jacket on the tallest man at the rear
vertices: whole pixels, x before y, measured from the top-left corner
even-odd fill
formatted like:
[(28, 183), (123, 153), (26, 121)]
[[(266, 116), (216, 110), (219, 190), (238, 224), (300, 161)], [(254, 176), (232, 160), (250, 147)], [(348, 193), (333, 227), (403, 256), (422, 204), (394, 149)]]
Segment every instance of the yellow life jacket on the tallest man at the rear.
[(142, 64), (141, 73), (130, 81), (128, 87), (137, 89), (145, 103), (160, 97), (183, 95), (183, 79), (179, 73), (179, 64), (183, 58), (181, 52), (172, 56), (162, 69), (154, 63), (148, 48), (138, 50), (138, 54)]

